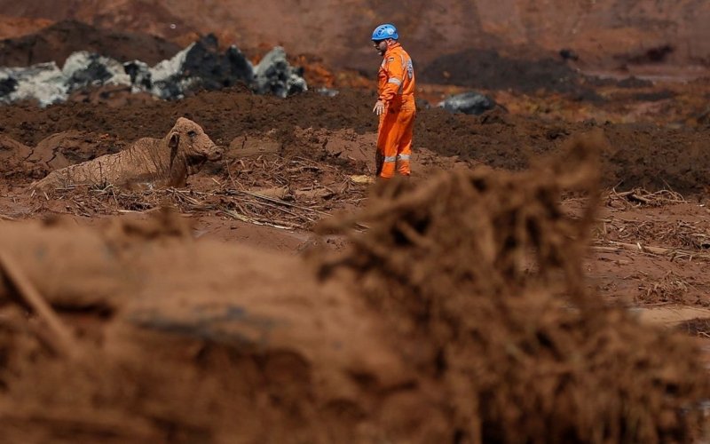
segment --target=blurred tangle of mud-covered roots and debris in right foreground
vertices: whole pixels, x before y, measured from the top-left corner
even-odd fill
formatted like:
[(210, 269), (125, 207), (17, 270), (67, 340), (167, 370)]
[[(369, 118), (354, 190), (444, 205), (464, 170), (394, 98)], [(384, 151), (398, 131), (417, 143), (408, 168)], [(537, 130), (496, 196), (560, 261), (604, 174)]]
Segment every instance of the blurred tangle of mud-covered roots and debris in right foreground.
[[(465, 442), (687, 442), (699, 430), (708, 385), (694, 347), (585, 293), (603, 143), (576, 139), (563, 159), (516, 175), (402, 181), (324, 226), (370, 226), (321, 271), (354, 273), (412, 338), (404, 360), (441, 381)], [(580, 218), (561, 212), (563, 190), (589, 196)]]

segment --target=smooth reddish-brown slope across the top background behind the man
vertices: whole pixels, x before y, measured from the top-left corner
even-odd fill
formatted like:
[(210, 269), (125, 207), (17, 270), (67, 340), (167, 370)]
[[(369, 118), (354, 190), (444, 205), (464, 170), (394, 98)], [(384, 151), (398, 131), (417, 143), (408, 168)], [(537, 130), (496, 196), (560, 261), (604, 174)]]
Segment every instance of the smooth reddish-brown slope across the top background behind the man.
[(491, 45), (524, 46), (533, 58), (570, 48), (586, 67), (706, 64), (710, 53), (710, 5), (702, 0), (415, 0), (405, 7), (369, 0), (57, 0), (49, 6), (40, 0), (0, 0), (0, 11), (149, 32), (182, 39), (181, 44), (195, 32), (216, 32), (242, 48), (282, 44), (289, 53), (315, 53), (359, 69), (373, 68), (368, 37), (382, 21), (401, 28), (403, 41), (422, 64), (442, 53)]

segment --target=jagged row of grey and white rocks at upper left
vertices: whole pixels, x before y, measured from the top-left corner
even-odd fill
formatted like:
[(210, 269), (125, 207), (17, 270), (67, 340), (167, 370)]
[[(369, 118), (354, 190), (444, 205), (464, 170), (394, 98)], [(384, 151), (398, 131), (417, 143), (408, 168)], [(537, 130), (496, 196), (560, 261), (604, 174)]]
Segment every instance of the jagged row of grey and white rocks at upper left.
[(61, 69), (54, 61), (0, 67), (0, 103), (36, 100), (47, 106), (67, 100), (75, 91), (102, 85), (122, 85), (160, 99), (182, 99), (196, 91), (235, 84), (279, 97), (308, 89), (303, 69), (288, 64), (283, 48), (275, 47), (253, 66), (236, 46), (220, 53), (217, 37), (209, 35), (153, 67), (141, 60), (122, 62), (85, 51), (69, 55)]

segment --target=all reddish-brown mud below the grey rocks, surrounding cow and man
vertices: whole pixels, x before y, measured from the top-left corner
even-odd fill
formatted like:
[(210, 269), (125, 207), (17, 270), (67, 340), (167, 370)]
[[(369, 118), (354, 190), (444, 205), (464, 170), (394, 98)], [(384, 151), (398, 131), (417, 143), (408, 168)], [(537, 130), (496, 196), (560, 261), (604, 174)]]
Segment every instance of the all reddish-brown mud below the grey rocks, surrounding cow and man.
[[(372, 91), (0, 107), (3, 439), (700, 437), (710, 88), (582, 85), (422, 107), (390, 186)], [(28, 189), (178, 116), (226, 148), (185, 189)]]

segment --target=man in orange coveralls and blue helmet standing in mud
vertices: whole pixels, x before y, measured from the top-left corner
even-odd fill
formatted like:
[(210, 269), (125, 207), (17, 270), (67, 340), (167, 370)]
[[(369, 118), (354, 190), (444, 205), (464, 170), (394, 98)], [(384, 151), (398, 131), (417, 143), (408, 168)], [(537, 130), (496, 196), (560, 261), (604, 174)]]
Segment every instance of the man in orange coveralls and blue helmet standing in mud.
[(377, 74), (377, 102), (373, 113), (380, 117), (377, 129), (376, 174), (392, 178), (395, 172), (409, 176), (414, 132), (414, 67), (398, 43), (397, 28), (390, 23), (375, 28), (372, 42), (383, 62)]

